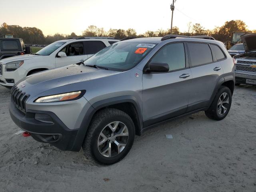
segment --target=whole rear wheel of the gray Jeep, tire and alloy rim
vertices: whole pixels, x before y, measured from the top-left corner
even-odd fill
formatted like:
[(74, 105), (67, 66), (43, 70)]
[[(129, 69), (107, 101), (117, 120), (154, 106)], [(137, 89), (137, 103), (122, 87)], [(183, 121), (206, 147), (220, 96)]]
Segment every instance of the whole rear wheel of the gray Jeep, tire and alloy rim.
[(221, 86), (205, 114), (208, 118), (222, 120), (228, 115), (231, 103), (232, 94), (230, 89), (226, 86)]

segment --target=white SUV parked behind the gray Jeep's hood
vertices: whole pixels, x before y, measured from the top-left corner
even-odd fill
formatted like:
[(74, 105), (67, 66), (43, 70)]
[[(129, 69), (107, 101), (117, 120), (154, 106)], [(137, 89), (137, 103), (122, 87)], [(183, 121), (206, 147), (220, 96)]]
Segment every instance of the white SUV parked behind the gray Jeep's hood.
[(25, 54), (0, 60), (0, 85), (12, 87), (22, 78), (52, 68), (77, 64), (106, 46), (115, 38), (81, 37), (56, 41), (36, 54)]

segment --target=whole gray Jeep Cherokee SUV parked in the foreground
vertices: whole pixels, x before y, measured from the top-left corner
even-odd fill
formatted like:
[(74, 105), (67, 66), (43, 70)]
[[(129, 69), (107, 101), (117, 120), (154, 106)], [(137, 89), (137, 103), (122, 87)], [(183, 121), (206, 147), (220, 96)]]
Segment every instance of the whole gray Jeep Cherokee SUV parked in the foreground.
[(121, 40), (84, 61), (28, 76), (11, 90), (10, 115), (60, 150), (120, 161), (135, 134), (166, 120), (230, 110), (234, 63), (221, 42), (167, 35)]

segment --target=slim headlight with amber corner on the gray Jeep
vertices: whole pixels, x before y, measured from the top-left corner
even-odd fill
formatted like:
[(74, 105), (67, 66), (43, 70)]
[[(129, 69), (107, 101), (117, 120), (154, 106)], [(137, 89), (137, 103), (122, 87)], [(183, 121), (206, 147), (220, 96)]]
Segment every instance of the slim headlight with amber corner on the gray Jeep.
[(63, 93), (58, 95), (44, 96), (36, 99), (36, 103), (49, 103), (49, 102), (60, 102), (79, 99), (82, 96), (82, 91), (75, 91), (70, 93)]

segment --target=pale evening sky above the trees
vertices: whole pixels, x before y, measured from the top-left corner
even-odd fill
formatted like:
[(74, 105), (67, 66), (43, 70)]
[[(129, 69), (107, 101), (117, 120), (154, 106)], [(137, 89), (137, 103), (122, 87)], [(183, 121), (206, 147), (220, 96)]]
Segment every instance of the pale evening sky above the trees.
[[(104, 28), (134, 28), (137, 34), (171, 26), (172, 0), (1, 0), (0, 24), (36, 27), (48, 34), (81, 35), (89, 25)], [(187, 24), (206, 29), (228, 20), (243, 20), (256, 29), (254, 0), (176, 0), (173, 26), (188, 31)], [(250, 5), (250, 6), (248, 6)]]

